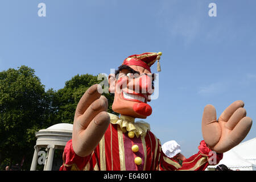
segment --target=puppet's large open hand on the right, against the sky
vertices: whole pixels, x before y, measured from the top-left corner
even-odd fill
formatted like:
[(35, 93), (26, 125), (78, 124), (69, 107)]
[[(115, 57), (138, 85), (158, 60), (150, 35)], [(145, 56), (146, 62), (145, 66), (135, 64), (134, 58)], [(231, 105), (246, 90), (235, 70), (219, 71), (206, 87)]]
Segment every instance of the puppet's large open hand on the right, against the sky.
[(208, 147), (218, 153), (223, 153), (237, 146), (250, 131), (252, 120), (246, 117), (243, 101), (233, 102), (220, 118), (216, 119), (214, 106), (204, 108), (202, 133)]

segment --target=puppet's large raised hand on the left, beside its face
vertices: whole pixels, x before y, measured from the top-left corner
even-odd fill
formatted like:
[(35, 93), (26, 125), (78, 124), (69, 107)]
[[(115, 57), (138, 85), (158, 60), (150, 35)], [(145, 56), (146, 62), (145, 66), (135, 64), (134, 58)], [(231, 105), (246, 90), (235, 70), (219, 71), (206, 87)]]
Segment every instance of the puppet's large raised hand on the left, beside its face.
[(76, 107), (72, 146), (79, 156), (88, 156), (96, 148), (108, 129), (110, 117), (106, 113), (108, 100), (98, 93), (98, 84), (91, 86)]

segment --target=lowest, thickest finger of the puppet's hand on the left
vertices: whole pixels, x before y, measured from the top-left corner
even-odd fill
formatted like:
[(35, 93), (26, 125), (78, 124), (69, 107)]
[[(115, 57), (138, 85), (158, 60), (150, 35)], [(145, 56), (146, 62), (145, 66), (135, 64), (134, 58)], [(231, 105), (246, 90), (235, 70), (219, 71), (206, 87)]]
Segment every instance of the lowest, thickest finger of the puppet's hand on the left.
[(73, 149), (77, 155), (84, 157), (90, 155), (104, 136), (110, 123), (109, 114), (105, 111), (99, 113), (92, 122), (89, 123), (86, 130), (82, 131), (73, 142)]

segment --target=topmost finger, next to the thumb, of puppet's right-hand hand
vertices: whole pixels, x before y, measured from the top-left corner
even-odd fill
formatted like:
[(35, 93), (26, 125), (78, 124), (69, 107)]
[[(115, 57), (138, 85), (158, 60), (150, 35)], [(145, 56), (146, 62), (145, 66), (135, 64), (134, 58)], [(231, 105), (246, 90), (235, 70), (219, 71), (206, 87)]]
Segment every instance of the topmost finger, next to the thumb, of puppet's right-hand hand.
[(231, 105), (229, 105), (223, 113), (220, 115), (220, 118), (218, 121), (225, 121), (227, 122), (229, 118), (234, 114), (234, 112), (239, 109), (240, 107), (243, 107), (245, 104), (243, 101), (235, 101)]

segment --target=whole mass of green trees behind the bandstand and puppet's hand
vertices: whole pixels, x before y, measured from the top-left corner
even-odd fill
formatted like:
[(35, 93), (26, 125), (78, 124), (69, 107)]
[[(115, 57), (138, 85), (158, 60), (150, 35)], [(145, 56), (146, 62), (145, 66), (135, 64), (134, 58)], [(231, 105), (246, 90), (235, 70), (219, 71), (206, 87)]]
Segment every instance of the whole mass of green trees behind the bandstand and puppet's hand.
[[(100, 83), (97, 76), (76, 75), (57, 91), (44, 89), (34, 69), (21, 66), (0, 72), (0, 164), (20, 163), (30, 169), (35, 132), (56, 123), (73, 123), (76, 105), (85, 91)], [(114, 113), (113, 94), (104, 93), (108, 112)], [(117, 114), (117, 113), (114, 113)], [(10, 165), (10, 164), (9, 164)]]

